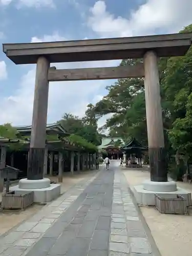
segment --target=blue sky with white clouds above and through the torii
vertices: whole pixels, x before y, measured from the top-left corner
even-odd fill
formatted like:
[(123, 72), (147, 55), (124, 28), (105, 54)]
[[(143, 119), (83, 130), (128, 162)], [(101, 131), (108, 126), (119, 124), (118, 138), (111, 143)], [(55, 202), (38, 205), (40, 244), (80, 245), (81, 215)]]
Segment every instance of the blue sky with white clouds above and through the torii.
[[(192, 23), (191, 10), (191, 0), (0, 0), (0, 43), (175, 33)], [(108, 67), (119, 62), (56, 66)], [(35, 65), (16, 66), (0, 51), (0, 123), (31, 124), (34, 77)], [(87, 104), (101, 99), (113, 82), (51, 82), (48, 122), (65, 112), (82, 116)]]

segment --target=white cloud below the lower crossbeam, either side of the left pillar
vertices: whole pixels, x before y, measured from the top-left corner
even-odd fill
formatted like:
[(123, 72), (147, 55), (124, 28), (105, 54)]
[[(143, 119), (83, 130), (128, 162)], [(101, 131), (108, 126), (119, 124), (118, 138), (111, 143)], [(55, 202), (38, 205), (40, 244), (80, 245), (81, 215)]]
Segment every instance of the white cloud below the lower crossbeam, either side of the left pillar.
[[(28, 71), (20, 81), (19, 88), (0, 102), (0, 122), (16, 125), (30, 124), (32, 121), (35, 69)], [(94, 95), (102, 83), (91, 81), (50, 82), (48, 122), (55, 122), (65, 112), (82, 116), (89, 103), (88, 97)]]

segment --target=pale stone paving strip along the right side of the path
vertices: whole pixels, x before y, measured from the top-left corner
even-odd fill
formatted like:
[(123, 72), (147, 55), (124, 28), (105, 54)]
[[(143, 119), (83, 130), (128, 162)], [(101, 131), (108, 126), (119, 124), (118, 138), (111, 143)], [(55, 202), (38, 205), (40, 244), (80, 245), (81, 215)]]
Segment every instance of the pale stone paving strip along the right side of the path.
[(127, 182), (118, 168), (114, 176), (109, 255), (152, 256), (151, 245), (133, 203)]

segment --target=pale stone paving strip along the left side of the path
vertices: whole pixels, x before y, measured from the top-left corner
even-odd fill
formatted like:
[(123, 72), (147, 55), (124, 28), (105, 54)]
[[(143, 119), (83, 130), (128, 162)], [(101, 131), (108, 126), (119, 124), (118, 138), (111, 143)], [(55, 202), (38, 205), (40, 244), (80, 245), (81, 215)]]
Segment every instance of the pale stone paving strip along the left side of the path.
[[(97, 177), (80, 181), (70, 188), (65, 194), (41, 208), (33, 217), (13, 228), (5, 236), (0, 237), (0, 255), (35, 255), (44, 256), (53, 247), (56, 239), (72, 220), (71, 210), (75, 210), (74, 201), (80, 204), (86, 198), (82, 192)], [(65, 218), (62, 215), (69, 209)], [(62, 225), (61, 225), (62, 223)], [(31, 253), (31, 254), (30, 254)], [(42, 254), (42, 255), (41, 255)]]

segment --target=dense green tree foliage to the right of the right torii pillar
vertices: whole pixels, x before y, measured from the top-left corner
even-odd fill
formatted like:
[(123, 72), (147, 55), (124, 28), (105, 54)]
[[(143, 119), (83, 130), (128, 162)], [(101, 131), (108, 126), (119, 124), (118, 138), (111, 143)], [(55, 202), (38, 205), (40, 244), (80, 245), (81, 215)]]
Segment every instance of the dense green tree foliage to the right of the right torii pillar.
[[(180, 33), (191, 32), (192, 25)], [(185, 56), (172, 57), (166, 61), (166, 72), (161, 84), (163, 106), (169, 142), (169, 169), (173, 176), (181, 178), (188, 172), (192, 157), (192, 48)]]

